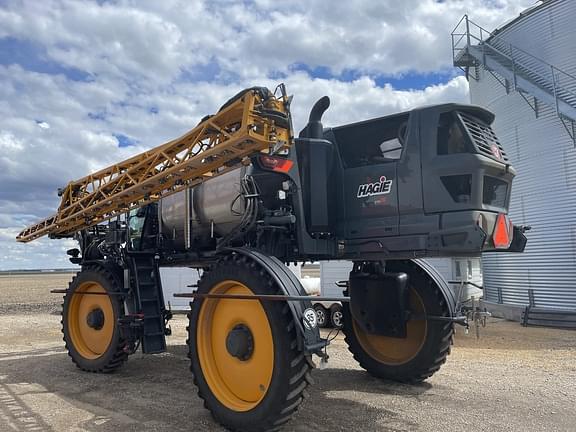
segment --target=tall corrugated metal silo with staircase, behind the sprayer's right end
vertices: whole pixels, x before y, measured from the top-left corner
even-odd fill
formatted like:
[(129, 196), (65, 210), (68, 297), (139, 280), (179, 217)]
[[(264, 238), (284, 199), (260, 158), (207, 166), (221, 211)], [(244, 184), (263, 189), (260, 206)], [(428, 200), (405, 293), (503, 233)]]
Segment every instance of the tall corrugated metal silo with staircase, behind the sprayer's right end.
[(532, 226), (523, 254), (484, 254), (491, 303), (576, 310), (575, 22), (574, 1), (549, 0), (492, 33), (468, 17), (453, 33), (471, 102), (496, 114), (518, 171), (510, 216)]

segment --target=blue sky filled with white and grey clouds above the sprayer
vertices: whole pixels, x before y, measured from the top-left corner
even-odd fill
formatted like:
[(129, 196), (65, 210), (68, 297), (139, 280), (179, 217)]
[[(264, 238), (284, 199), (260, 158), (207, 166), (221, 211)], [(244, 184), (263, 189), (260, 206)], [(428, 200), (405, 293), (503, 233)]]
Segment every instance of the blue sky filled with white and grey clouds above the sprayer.
[(70, 267), (18, 244), (69, 180), (175, 138), (238, 90), (285, 82), (295, 127), (468, 101), (464, 13), (493, 29), (534, 0), (0, 0), (0, 270)]

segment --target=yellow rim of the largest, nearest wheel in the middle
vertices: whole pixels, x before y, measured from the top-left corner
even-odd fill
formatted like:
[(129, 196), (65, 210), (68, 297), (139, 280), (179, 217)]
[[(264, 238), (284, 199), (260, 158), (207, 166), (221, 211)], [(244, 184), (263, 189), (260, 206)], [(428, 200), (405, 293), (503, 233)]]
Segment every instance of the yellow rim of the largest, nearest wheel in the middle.
[[(212, 294), (254, 293), (244, 284), (226, 280)], [(237, 326), (252, 334), (253, 350), (246, 360), (232, 356), (226, 340)], [(204, 378), (214, 396), (227, 408), (243, 412), (266, 396), (274, 370), (274, 342), (266, 312), (255, 300), (203, 300), (196, 324), (197, 352)]]

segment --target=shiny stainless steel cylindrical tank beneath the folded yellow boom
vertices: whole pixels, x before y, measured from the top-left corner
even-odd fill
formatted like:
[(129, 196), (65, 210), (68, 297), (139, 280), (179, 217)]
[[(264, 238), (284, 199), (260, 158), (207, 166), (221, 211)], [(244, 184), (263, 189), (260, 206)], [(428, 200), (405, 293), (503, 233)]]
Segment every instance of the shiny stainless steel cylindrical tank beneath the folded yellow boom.
[(160, 200), (160, 233), (171, 248), (183, 251), (195, 240), (234, 230), (245, 208), (240, 183), (249, 171), (241, 167)]

